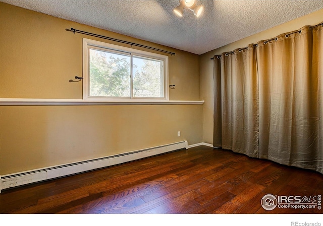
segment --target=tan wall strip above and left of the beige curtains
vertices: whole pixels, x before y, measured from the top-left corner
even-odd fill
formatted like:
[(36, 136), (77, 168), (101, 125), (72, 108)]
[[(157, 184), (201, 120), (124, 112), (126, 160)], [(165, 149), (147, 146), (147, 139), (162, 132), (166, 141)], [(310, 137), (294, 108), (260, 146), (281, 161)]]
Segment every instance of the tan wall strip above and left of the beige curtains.
[(298, 30), (305, 25), (316, 25), (322, 21), (323, 9), (200, 55), (200, 98), (205, 101), (202, 120), (203, 142), (213, 142), (213, 60), (210, 60), (210, 58), (223, 52), (246, 47), (251, 43), (275, 38), (279, 34)]

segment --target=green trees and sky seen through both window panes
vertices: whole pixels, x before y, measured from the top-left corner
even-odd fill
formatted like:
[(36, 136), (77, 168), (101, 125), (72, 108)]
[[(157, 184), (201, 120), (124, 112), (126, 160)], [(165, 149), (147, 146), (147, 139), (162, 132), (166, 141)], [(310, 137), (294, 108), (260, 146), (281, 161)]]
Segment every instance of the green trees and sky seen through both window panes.
[[(119, 52), (89, 50), (89, 95), (94, 97), (164, 97), (163, 61)], [(132, 83), (131, 83), (132, 82)]]

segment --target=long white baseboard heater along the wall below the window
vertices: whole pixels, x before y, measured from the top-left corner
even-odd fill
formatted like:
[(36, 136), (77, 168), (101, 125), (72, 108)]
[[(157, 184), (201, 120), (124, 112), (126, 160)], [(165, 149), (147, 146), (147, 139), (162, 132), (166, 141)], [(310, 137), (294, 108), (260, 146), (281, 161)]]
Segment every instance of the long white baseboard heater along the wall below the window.
[(8, 188), (83, 173), (86, 171), (118, 165), (167, 152), (172, 152), (174, 150), (179, 150), (183, 148), (188, 148), (188, 143), (186, 140), (141, 150), (135, 150), (133, 152), (123, 153), (114, 156), (107, 156), (87, 161), (2, 175), (0, 176), (0, 192), (1, 190)]

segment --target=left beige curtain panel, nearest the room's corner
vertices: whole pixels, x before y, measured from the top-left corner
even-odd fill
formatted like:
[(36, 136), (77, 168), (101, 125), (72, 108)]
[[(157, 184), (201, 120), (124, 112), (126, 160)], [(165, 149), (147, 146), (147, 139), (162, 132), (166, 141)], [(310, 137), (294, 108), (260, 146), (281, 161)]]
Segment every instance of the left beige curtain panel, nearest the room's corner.
[[(256, 71), (255, 46), (251, 44), (247, 48), (222, 54), (221, 75), (218, 74), (216, 81), (219, 86), (220, 80), (222, 90), (222, 140), (218, 146), (251, 157), (258, 155), (259, 113)], [(217, 102), (218, 100), (214, 106), (219, 104)]]

